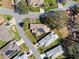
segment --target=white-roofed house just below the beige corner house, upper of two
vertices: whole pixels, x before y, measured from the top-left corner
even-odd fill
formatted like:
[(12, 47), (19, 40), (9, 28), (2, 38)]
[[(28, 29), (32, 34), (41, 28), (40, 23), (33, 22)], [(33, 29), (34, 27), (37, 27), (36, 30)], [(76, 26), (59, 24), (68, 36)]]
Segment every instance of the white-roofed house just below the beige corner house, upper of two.
[(58, 39), (58, 35), (55, 32), (51, 32), (51, 33), (47, 34), (45, 37), (43, 37), (40, 41), (38, 41), (38, 43), (41, 46), (44, 45), (45, 47), (47, 47), (48, 45), (50, 45), (57, 39)]

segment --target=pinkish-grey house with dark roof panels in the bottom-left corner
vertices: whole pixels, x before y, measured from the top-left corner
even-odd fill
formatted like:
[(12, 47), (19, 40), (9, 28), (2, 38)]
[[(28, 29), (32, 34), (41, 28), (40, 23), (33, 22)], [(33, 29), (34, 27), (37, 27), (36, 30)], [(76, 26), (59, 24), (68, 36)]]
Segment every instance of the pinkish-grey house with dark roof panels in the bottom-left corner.
[(0, 49), (0, 52), (3, 54), (3, 56), (7, 56), (9, 59), (16, 55), (20, 51), (20, 48), (17, 46), (15, 41), (9, 42), (6, 46), (4, 46), (2, 49)]

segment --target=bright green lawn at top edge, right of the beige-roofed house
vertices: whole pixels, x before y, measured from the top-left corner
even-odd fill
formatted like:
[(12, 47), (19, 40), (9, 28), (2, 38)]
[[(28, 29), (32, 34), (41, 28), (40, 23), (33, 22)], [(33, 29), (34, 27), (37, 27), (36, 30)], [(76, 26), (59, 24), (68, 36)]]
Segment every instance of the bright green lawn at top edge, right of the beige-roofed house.
[(45, 1), (45, 11), (49, 11), (51, 9), (57, 8), (58, 4), (56, 0), (44, 0)]

